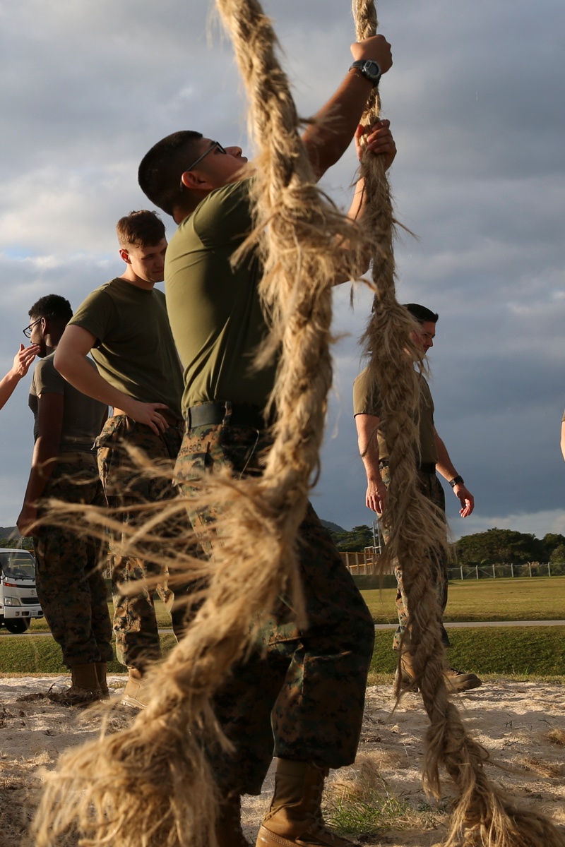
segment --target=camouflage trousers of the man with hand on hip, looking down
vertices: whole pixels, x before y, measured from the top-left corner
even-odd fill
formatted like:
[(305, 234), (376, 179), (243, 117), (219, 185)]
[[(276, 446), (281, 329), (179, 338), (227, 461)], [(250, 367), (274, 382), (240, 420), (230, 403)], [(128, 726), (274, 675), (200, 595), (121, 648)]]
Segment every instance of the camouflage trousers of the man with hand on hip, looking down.
[[(145, 424), (136, 424), (125, 415), (108, 418), (102, 433), (96, 440), (98, 448), (98, 471), (108, 507), (115, 510), (114, 517), (121, 523), (140, 525), (147, 514), (136, 511), (142, 504), (153, 504), (171, 500), (176, 496), (170, 478), (144, 472), (131, 457), (127, 446), (141, 451), (153, 467), (169, 470), (173, 467), (180, 448), (180, 429), (169, 427), (164, 433), (155, 435)], [(178, 529), (175, 520), (165, 520), (153, 531), (163, 539), (173, 538)], [(185, 606), (177, 588), (176, 596), (169, 588), (169, 570), (159, 561), (161, 548), (155, 550), (147, 545), (147, 560), (136, 556), (121, 556), (118, 547), (123, 536), (110, 539), (112, 568), (112, 596), (114, 600), (114, 634), (119, 662), (126, 667), (143, 669), (147, 662), (161, 657), (152, 587), (141, 584), (139, 590), (131, 592), (132, 583), (153, 580), (155, 589), (165, 605), (171, 607), (173, 630), (177, 638), (183, 633)], [(149, 556), (149, 551), (151, 556)]]

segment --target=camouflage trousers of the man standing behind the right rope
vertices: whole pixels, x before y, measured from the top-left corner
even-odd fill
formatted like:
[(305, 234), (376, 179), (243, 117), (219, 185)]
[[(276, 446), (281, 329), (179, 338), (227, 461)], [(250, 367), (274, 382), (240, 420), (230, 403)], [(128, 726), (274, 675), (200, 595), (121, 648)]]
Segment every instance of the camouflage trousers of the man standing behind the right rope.
[[(380, 476), (386, 487), (388, 488), (391, 482), (391, 474), (390, 468), (388, 465), (380, 468)], [(422, 471), (418, 472), (418, 485), (420, 491), (430, 500), (435, 506), (440, 509), (440, 512), (445, 515), (446, 513), (446, 495), (444, 494), (444, 490), (441, 486), (440, 480), (437, 478), (435, 473), (423, 473)], [(386, 543), (386, 533), (385, 533), (385, 543)], [(447, 605), (447, 558), (443, 551), (438, 551), (436, 555), (437, 568), (435, 568), (433, 578), (435, 584), (435, 590), (437, 594), (438, 605), (441, 610), (441, 618), (443, 618), (443, 613), (446, 611)], [(395, 567), (395, 575), (396, 575), (396, 612), (398, 612), (398, 628), (392, 639), (392, 649), (400, 650), (402, 639), (404, 639), (404, 643), (407, 643), (408, 634), (407, 625), (408, 618), (410, 615), (408, 609), (408, 598), (407, 594), (404, 590), (404, 581), (402, 579), (402, 568)], [(440, 628), (441, 628), (441, 640), (443, 641), (446, 647), (450, 646), (449, 636), (446, 632), (446, 628), (443, 625), (443, 621), (440, 620)]]

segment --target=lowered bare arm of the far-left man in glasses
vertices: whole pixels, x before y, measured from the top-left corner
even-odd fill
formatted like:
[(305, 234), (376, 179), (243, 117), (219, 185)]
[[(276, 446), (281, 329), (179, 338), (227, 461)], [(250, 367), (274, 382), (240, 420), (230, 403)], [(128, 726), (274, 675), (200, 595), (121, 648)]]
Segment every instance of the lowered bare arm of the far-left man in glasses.
[(31, 459), (30, 479), (25, 490), (24, 505), (16, 521), (19, 532), (29, 535), (37, 518), (37, 501), (41, 498), (57, 462), (63, 429), (64, 396), (43, 393), (37, 398), (38, 435)]

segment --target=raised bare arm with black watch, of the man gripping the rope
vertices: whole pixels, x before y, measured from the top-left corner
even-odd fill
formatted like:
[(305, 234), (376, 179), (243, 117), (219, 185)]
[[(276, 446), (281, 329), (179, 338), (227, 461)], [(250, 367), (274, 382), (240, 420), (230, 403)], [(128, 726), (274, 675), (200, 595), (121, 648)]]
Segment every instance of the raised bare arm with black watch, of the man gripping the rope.
[[(374, 59), (382, 73), (391, 68), (391, 45), (385, 36), (356, 42), (351, 51), (356, 61)], [(302, 140), (318, 179), (346, 152), (372, 90), (372, 83), (357, 70), (349, 71), (335, 94), (315, 115), (314, 123), (307, 126)]]

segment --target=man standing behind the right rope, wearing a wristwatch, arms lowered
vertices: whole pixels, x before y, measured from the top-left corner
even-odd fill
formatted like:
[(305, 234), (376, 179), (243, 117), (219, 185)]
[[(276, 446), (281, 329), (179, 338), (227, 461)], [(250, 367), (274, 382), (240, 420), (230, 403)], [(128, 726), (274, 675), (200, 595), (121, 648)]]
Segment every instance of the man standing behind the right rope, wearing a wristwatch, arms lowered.
[[(420, 331), (412, 334), (413, 341), (422, 352), (422, 357), (434, 346), (435, 324), (438, 315), (425, 306), (418, 303), (408, 303), (408, 312), (420, 324)], [(457, 470), (451, 462), (446, 445), (437, 434), (434, 423), (434, 401), (429, 391), (429, 385), (423, 374), (419, 374), (420, 405), (419, 405), (419, 456), (418, 456), (418, 484), (422, 493), (428, 497), (439, 509), (445, 519), (446, 496), (437, 478), (436, 471), (446, 479), (454, 495), (461, 503), (460, 514), (467, 518), (473, 512), (474, 498), (463, 482)], [(376, 389), (376, 390), (375, 390)], [(380, 398), (378, 386), (371, 385), (368, 380), (367, 370), (363, 370), (353, 383), (353, 414), (357, 427), (357, 443), (359, 452), (363, 458), (363, 466), (367, 473), (367, 493), (365, 503), (369, 509), (381, 514), (385, 508), (386, 493), (391, 482), (389, 469), (389, 448), (386, 444), (385, 434), (380, 428)], [(402, 569), (396, 567), (396, 609), (398, 611), (398, 628), (394, 635), (392, 649), (401, 650), (402, 639), (402, 684), (409, 687), (414, 682), (412, 657), (409, 650), (408, 634), (406, 633), (409, 610), (407, 606), (407, 595), (404, 591), (402, 580)], [(438, 595), (438, 603), (441, 615), (445, 612), (447, 604), (447, 559), (445, 555), (440, 556), (435, 588)], [(441, 625), (441, 635), (446, 647), (449, 647), (449, 636), (446, 628)], [(446, 666), (444, 671), (446, 685), (453, 691), (466, 691), (477, 688), (481, 680), (474, 673), (463, 673), (453, 667)]]

